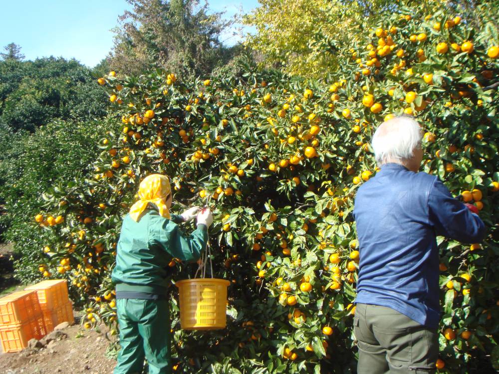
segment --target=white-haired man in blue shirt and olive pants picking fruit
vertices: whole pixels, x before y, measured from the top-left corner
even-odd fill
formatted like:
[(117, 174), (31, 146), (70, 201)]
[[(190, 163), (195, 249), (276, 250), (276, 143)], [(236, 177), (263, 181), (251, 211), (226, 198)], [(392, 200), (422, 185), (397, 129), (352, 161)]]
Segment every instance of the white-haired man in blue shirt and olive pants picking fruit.
[(474, 205), (452, 197), (437, 177), (418, 173), (423, 149), (414, 119), (383, 122), (371, 144), (381, 170), (358, 189), (353, 213), (360, 244), (357, 372), (434, 373), (440, 320), (436, 236), (477, 243), (485, 226)]

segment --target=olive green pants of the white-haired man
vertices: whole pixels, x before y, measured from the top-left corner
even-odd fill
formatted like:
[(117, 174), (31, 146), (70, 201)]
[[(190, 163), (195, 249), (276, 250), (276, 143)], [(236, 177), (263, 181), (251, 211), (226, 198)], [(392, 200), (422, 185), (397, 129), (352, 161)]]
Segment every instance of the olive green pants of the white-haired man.
[(358, 374), (435, 373), (438, 333), (391, 308), (357, 304)]

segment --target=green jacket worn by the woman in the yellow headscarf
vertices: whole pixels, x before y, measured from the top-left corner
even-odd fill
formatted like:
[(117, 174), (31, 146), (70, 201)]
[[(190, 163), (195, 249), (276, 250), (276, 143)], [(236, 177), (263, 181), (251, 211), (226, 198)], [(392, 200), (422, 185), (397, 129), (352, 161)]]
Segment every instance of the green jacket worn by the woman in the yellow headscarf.
[(182, 218), (172, 215), (167, 219), (152, 209), (146, 210), (138, 222), (128, 214), (125, 216), (111, 275), (116, 291), (165, 295), (169, 285), (168, 263), (173, 258), (200, 258), (208, 242), (206, 226), (200, 224), (186, 236), (176, 222), (182, 222)]

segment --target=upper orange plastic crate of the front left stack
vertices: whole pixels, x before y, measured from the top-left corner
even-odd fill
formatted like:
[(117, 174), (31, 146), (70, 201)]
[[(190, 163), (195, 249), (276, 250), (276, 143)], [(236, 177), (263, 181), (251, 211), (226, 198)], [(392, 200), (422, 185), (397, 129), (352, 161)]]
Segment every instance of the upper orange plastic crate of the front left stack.
[(19, 324), (41, 316), (35, 291), (14, 292), (0, 299), (0, 327)]

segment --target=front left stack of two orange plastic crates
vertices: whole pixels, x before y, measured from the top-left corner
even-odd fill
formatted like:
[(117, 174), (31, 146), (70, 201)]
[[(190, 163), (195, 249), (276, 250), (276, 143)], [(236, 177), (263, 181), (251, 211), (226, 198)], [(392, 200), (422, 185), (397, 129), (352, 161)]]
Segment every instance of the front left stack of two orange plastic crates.
[(46, 329), (35, 291), (19, 291), (0, 299), (0, 340), (3, 352), (18, 352)]

